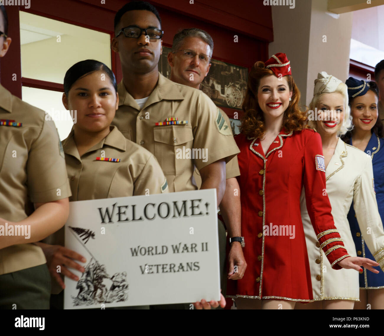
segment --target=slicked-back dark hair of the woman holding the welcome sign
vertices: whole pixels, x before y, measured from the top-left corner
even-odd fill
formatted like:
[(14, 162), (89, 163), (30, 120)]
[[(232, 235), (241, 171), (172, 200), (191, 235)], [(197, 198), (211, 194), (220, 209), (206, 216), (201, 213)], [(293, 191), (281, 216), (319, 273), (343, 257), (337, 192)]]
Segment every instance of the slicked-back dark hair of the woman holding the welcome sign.
[(85, 60), (80, 61), (71, 66), (64, 76), (64, 92), (68, 96), (68, 92), (70, 91), (74, 82), (76, 82), (79, 78), (83, 77), (94, 71), (104, 71), (108, 74), (109, 79), (111, 79), (111, 83), (115, 89), (118, 91), (116, 77), (104, 63), (96, 61), (96, 60)]

